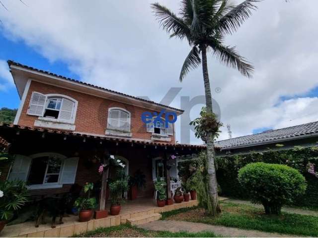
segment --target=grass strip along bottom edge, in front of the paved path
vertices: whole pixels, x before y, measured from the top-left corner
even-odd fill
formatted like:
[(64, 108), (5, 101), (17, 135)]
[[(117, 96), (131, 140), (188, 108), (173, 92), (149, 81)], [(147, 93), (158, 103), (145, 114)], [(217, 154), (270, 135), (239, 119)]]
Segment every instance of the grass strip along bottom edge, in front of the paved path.
[(147, 231), (128, 224), (115, 227), (99, 228), (73, 237), (220, 237), (213, 232), (168, 232), (168, 231)]

